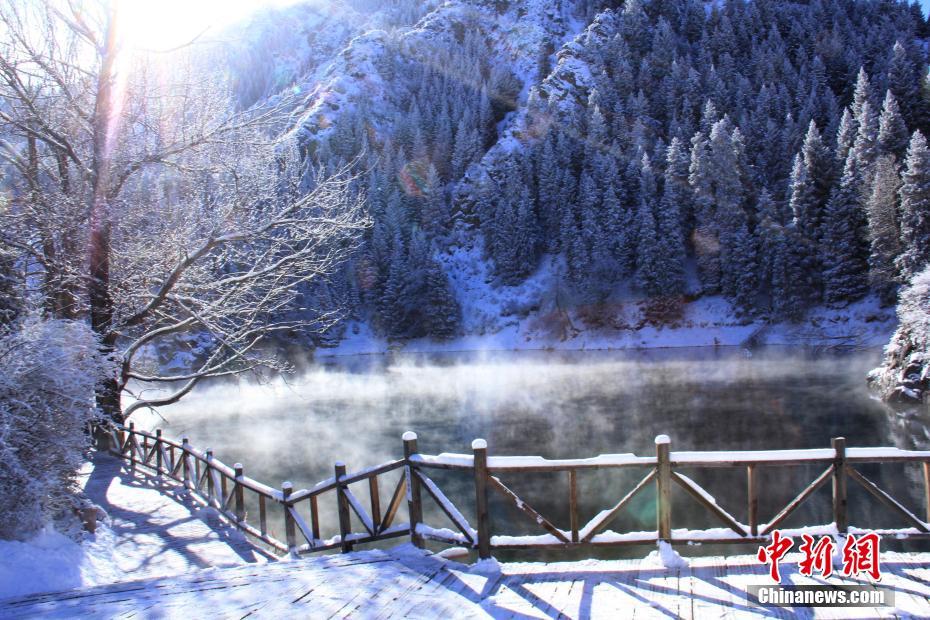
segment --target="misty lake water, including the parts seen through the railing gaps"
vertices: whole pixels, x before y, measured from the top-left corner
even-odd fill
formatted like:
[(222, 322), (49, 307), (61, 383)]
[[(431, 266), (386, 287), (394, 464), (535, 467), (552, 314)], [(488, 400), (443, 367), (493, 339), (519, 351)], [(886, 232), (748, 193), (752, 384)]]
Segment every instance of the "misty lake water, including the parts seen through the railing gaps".
[[(353, 471), (397, 458), (406, 430), (415, 430), (420, 450), (432, 454), (468, 452), (472, 439), (484, 437), (492, 455), (649, 455), (658, 434), (671, 436), (673, 450), (820, 448), (837, 436), (845, 436), (849, 446), (926, 448), (926, 420), (904, 421), (868, 393), (865, 374), (879, 359), (880, 351), (766, 350), (750, 356), (732, 349), (342, 358), (273, 385), (203, 389), (162, 409), (167, 425), (154, 416), (148, 422), (161, 422), (168, 435), (188, 435), (196, 446), (209, 445), (226, 463), (245, 463), (246, 473), (258, 480), (276, 486), (288, 479), (295, 488), (331, 476), (337, 460)], [(921, 506), (916, 468), (863, 471), (914, 510)], [(746, 519), (745, 471), (686, 473)], [(763, 469), (760, 518), (771, 518), (819, 473)], [(580, 474), (582, 522), (614, 503), (641, 475)], [(504, 481), (567, 527), (566, 478), (509, 475)], [(467, 476), (435, 479), (471, 514), (474, 493)], [(903, 526), (864, 492), (852, 484), (850, 489), (853, 524)], [(382, 494), (390, 491), (382, 488)], [(654, 529), (651, 493), (638, 497), (612, 529)], [(673, 527), (720, 525), (684, 494), (674, 499)], [(503, 504), (493, 503), (492, 510), (501, 533), (540, 533)], [(785, 525), (829, 520), (828, 485)], [(443, 524), (438, 513), (433, 521)]]

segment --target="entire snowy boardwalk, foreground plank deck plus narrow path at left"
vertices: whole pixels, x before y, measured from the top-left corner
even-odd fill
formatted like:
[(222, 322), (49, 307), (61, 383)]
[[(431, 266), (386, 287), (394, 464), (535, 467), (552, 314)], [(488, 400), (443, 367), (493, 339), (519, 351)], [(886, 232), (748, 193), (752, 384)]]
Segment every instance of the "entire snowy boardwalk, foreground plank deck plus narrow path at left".
[[(747, 586), (768, 583), (754, 556), (692, 558), (680, 568), (655, 554), (470, 567), (405, 544), (266, 562), (214, 511), (152, 484), (98, 456), (85, 488), (111, 516), (123, 581), (0, 600), (0, 618), (930, 618), (926, 553), (882, 554), (894, 607), (764, 608), (746, 597)], [(783, 560), (783, 579), (823, 583), (799, 575), (798, 559)]]

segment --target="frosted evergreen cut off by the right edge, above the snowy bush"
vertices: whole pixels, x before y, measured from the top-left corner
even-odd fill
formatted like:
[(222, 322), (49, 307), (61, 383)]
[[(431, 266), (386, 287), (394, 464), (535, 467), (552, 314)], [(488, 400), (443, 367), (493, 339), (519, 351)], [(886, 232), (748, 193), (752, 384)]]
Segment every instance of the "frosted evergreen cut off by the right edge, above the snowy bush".
[(919, 131), (911, 137), (901, 183), (901, 246), (897, 259), (906, 282), (930, 264), (930, 151)]

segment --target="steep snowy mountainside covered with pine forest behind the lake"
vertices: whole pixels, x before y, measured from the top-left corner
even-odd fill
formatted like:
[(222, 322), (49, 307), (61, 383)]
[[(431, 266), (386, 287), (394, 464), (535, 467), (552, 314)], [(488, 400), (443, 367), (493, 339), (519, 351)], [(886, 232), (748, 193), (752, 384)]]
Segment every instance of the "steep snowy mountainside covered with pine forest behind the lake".
[(891, 187), (930, 174), (927, 34), (903, 2), (342, 0), (229, 57), (359, 170), (369, 234), (305, 292), (330, 345), (874, 343), (927, 235)]

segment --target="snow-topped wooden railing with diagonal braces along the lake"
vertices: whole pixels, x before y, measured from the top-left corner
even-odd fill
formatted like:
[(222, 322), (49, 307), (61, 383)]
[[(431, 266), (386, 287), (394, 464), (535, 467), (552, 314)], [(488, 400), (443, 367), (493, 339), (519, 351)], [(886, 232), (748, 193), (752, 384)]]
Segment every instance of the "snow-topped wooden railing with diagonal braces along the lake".
[[(282, 553), (301, 554), (341, 549), (351, 551), (355, 544), (374, 542), (398, 536), (411, 537), (414, 545), (424, 546), (426, 540), (475, 549), (482, 558), (491, 557), (495, 549), (568, 548), (579, 546), (614, 546), (670, 543), (739, 543), (763, 542), (771, 532), (783, 525), (814, 493), (832, 484), (833, 522), (804, 528), (806, 533), (830, 534), (849, 531), (847, 482), (860, 485), (880, 503), (910, 525), (904, 529), (876, 529), (897, 538), (930, 537), (930, 451), (909, 451), (898, 448), (847, 448), (840, 437), (826, 449), (763, 450), (743, 452), (672, 452), (669, 438), (656, 438), (655, 456), (632, 454), (601, 455), (588, 459), (550, 460), (541, 457), (488, 456), (482, 439), (472, 443), (471, 454), (425, 455), (417, 449), (417, 436), (403, 436), (404, 457), (376, 467), (349, 474), (345, 465), (335, 465), (334, 476), (310, 489), (294, 491), (285, 482), (281, 490), (273, 489), (247, 478), (241, 465), (229, 467), (217, 460), (210, 450), (198, 451), (187, 439), (181, 443), (162, 437), (161, 431), (148, 433), (128, 427), (110, 429), (110, 451), (128, 461), (129, 467), (156, 476), (171, 478), (184, 485), (203, 503), (218, 510), (230, 523), (246, 534)], [(864, 476), (857, 466), (863, 464), (914, 463), (922, 468), (924, 519)], [(768, 520), (759, 516), (758, 474), (762, 468), (814, 466), (823, 468), (800, 493), (788, 501)], [(738, 521), (719, 505), (703, 487), (681, 473), (682, 469), (741, 468), (746, 476), (748, 523)], [(382, 510), (380, 482), (385, 474), (403, 469), (403, 475), (393, 487), (387, 506)], [(640, 472), (638, 482), (617, 494), (616, 503), (596, 514), (587, 524), (579, 521), (579, 473), (586, 470), (632, 470)], [(465, 472), (473, 480), (473, 527), (455, 502), (449, 499), (430, 477), (430, 472), (451, 470)], [(561, 529), (541, 512), (501, 481), (501, 474), (532, 475), (558, 473), (567, 477), (568, 527)], [(368, 506), (349, 489), (349, 485), (366, 482)], [(472, 486), (469, 484), (469, 486)], [(656, 528), (654, 531), (614, 532), (610, 524), (628, 509), (632, 500), (645, 489), (654, 486)], [(701, 530), (673, 529), (673, 487), (680, 487), (723, 527)], [(245, 493), (258, 498), (258, 524), (245, 510)], [(335, 494), (339, 533), (324, 539), (320, 533), (318, 498)], [(514, 536), (497, 532), (492, 525), (490, 497), (495, 493), (516, 512), (525, 515), (536, 535)], [(424, 521), (424, 500), (437, 507), (455, 528), (434, 527)], [(401, 504), (407, 504), (408, 523), (394, 524)], [(461, 503), (461, 502), (460, 502)], [(274, 507), (283, 513), (284, 541), (277, 539), (268, 527), (268, 510)], [(309, 510), (309, 523), (298, 508)], [(353, 518), (353, 514), (355, 515)], [(353, 532), (353, 520), (361, 530)], [(870, 524), (871, 525), (871, 524)], [(874, 528), (873, 528), (874, 529)], [(298, 542), (298, 535), (304, 541)]]

